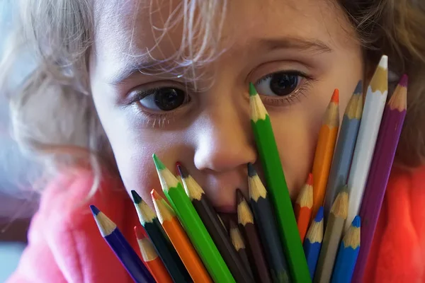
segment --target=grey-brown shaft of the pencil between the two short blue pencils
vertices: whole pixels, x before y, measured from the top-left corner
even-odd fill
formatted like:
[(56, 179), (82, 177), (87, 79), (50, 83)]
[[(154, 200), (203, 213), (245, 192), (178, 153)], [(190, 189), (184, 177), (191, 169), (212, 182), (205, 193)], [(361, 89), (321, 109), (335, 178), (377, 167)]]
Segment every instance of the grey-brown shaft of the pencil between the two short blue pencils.
[(317, 262), (314, 282), (325, 283), (331, 280), (344, 223), (345, 219), (343, 218), (335, 217), (333, 214), (329, 216), (329, 221), (324, 232), (322, 250), (320, 250), (319, 261)]

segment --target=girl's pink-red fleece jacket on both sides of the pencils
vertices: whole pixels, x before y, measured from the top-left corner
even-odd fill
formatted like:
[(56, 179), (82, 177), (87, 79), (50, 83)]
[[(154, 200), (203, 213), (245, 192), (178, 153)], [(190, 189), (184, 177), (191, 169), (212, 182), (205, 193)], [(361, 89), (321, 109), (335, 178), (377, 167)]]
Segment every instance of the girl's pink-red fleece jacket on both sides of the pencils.
[[(92, 181), (90, 171), (80, 170), (47, 187), (8, 283), (132, 282), (91, 216)], [(104, 178), (89, 203), (113, 219), (139, 253), (132, 230), (137, 215), (123, 185)], [(425, 167), (392, 172), (364, 282), (425, 282)]]

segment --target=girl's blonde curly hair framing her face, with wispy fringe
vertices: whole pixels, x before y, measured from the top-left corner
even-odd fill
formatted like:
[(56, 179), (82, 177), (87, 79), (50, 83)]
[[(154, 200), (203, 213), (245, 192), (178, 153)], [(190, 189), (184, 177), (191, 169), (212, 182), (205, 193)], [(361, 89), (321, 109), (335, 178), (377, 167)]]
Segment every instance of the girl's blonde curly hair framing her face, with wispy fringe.
[[(89, 161), (98, 175), (101, 159), (101, 163), (116, 170), (89, 95), (87, 66), (94, 38), (91, 2), (21, 0), (16, 33), (0, 62), (0, 89), (11, 99), (14, 137), (21, 149), (38, 158), (52, 173), (63, 164)], [(424, 164), (424, 2), (337, 0), (336, 5), (346, 11), (356, 28), (370, 66), (387, 54), (392, 72), (409, 75), (407, 117), (396, 163), (406, 168)], [(190, 50), (188, 61), (192, 64), (202, 64), (217, 54), (210, 42), (220, 38), (217, 17), (225, 17), (225, 7), (225, 0), (183, 0), (176, 11), (170, 11), (174, 18), (165, 21), (163, 33), (182, 21), (181, 49)], [(9, 76), (23, 50), (35, 55), (37, 66), (20, 87), (11, 88)]]

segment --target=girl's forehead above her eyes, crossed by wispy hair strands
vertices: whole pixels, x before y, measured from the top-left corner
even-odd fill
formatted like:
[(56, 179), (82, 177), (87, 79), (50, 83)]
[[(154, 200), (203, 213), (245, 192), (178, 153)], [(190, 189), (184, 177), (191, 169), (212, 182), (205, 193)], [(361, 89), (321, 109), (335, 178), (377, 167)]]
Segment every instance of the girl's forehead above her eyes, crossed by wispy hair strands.
[(267, 40), (329, 50), (354, 41), (344, 12), (329, 0), (232, 0), (226, 6), (213, 0), (188, 1), (193, 6), (184, 2), (97, 0), (93, 54), (96, 67), (108, 72), (103, 77), (116, 81), (131, 66), (181, 59), (176, 54), (190, 60), (205, 46), (244, 56)]

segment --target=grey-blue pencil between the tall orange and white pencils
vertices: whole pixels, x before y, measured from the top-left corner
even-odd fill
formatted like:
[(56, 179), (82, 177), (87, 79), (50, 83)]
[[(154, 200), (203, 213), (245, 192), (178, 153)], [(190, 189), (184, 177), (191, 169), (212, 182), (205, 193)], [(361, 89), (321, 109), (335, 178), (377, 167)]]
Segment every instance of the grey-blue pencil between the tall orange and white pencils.
[(353, 159), (354, 146), (356, 146), (358, 127), (360, 127), (361, 113), (363, 111), (363, 83), (358, 82), (353, 96), (348, 101), (347, 108), (336, 141), (334, 159), (329, 173), (326, 196), (324, 198), (324, 221), (326, 223), (332, 204), (338, 190), (347, 183), (351, 160)]

